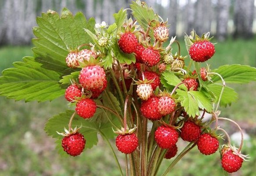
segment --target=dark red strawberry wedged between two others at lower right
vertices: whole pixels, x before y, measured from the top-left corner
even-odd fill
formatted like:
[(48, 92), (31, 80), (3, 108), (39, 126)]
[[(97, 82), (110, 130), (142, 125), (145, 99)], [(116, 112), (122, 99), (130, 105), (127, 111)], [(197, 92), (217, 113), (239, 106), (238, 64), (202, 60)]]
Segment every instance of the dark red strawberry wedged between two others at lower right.
[(200, 126), (196, 125), (193, 121), (186, 121), (181, 128), (181, 138), (189, 142), (197, 140), (200, 134)]

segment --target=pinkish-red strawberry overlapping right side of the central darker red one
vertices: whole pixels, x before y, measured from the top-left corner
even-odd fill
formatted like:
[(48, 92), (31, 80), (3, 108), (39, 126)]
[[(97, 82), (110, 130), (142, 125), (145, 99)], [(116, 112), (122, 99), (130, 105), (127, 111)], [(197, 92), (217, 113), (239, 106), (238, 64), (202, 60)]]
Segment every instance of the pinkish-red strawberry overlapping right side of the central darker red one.
[(159, 111), (160, 113), (165, 116), (167, 114), (170, 114), (171, 112), (174, 111), (175, 109), (175, 102), (173, 99), (171, 99), (170, 97), (168, 96), (162, 96), (160, 99), (159, 99), (159, 102), (158, 102), (158, 108), (159, 108)]

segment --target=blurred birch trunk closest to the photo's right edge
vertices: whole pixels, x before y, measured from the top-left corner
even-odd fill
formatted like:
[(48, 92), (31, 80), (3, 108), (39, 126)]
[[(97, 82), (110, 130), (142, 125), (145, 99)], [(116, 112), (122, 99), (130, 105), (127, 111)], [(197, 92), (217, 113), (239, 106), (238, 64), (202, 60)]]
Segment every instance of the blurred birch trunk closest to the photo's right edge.
[(234, 7), (234, 38), (252, 37), (254, 0), (236, 0)]

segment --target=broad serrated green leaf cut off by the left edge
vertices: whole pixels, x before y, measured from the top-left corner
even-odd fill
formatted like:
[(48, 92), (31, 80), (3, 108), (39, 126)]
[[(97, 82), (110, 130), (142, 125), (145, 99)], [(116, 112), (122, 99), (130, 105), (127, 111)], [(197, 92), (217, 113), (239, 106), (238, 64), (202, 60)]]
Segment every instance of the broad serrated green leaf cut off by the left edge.
[(59, 84), (61, 73), (46, 70), (33, 57), (25, 57), (23, 62), (13, 65), (0, 77), (0, 95), (26, 102), (43, 102), (64, 95), (65, 90)]

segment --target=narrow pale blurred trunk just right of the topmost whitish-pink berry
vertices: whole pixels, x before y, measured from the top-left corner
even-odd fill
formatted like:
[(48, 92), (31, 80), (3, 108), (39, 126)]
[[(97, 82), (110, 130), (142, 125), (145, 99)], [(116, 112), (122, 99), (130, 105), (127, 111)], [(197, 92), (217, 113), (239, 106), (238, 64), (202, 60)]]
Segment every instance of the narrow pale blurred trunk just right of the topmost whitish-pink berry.
[(170, 35), (176, 35), (178, 0), (169, 0), (168, 23), (170, 24)]

